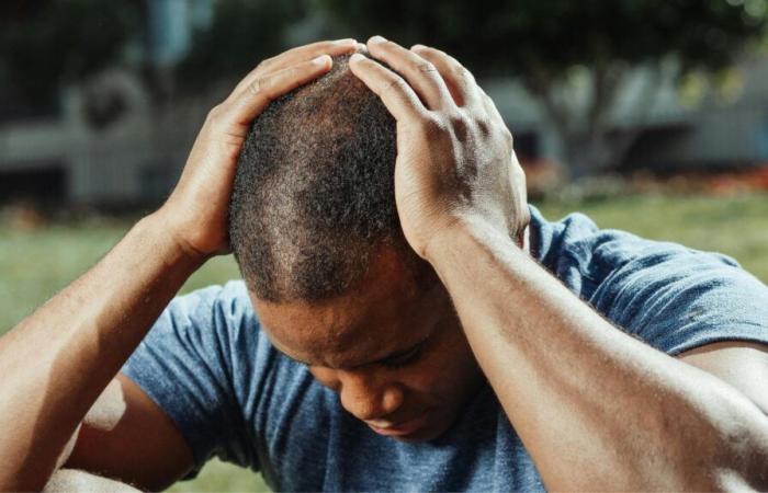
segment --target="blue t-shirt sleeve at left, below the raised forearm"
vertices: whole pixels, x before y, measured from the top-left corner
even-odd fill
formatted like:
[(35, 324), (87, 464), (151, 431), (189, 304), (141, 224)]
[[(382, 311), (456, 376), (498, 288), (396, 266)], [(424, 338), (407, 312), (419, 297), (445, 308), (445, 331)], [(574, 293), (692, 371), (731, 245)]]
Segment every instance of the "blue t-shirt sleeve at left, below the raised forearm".
[(195, 461), (188, 478), (214, 455), (258, 469), (231, 378), (233, 325), (241, 318), (231, 290), (212, 286), (173, 299), (122, 368), (185, 438)]

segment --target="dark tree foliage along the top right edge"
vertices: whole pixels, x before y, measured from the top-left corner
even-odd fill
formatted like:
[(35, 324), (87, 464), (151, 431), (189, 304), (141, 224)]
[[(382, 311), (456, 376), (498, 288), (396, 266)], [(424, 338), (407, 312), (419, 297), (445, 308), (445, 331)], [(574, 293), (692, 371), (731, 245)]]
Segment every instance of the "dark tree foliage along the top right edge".
[(676, 56), (719, 68), (765, 32), (766, 0), (318, 0), (361, 38), (381, 33), (455, 55), (478, 74), (631, 65)]

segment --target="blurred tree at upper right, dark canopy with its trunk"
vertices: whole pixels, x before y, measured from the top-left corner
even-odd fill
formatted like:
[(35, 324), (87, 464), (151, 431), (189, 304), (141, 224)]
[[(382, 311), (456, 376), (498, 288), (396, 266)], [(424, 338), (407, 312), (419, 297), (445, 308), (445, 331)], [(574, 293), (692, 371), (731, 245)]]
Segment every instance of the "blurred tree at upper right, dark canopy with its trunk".
[[(430, 44), (478, 77), (518, 77), (556, 129), (574, 175), (614, 164), (631, 140), (611, 134), (611, 112), (632, 70), (652, 74), (654, 93), (662, 73), (722, 69), (765, 33), (768, 19), (766, 0), (317, 2), (360, 38)], [(576, 96), (574, 88), (586, 90)]]

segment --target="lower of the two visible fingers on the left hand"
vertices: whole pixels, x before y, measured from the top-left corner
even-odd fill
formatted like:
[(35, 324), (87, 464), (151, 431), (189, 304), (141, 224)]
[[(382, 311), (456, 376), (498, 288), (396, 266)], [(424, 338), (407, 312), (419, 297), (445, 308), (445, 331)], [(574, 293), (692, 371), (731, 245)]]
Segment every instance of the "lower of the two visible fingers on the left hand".
[[(278, 72), (256, 78), (228, 105), (230, 111), (227, 112), (225, 119), (229, 124), (247, 127), (269, 103), (328, 72), (332, 64), (330, 56), (321, 55), (309, 61), (302, 61)], [(247, 131), (247, 128), (244, 131)]]

